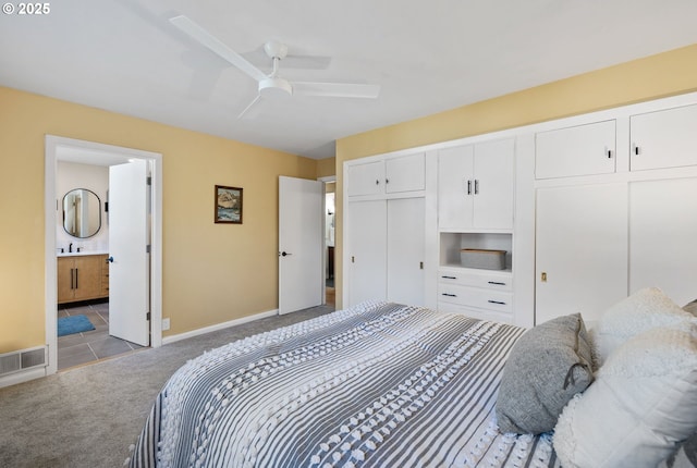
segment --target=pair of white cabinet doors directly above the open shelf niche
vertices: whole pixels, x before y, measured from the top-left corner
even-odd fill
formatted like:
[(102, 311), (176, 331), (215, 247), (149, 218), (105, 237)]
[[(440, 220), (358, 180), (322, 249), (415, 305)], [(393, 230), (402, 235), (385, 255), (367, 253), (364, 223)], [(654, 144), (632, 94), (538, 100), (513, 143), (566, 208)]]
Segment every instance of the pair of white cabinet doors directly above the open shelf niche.
[(513, 138), (439, 150), (439, 229), (513, 229), (514, 158)]

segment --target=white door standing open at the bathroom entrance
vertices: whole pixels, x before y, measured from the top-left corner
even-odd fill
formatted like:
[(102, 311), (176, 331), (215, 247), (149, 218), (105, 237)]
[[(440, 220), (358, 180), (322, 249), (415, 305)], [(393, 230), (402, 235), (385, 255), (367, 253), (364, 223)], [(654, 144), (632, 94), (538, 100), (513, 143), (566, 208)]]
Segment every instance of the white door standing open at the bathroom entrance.
[(109, 169), (109, 334), (149, 345), (147, 161)]

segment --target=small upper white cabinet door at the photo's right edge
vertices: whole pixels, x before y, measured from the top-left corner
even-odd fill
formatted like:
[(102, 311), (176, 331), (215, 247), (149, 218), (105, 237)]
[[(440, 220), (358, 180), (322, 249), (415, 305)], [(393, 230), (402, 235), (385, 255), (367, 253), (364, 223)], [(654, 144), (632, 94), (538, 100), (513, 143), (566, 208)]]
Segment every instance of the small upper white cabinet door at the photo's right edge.
[(697, 106), (633, 115), (632, 171), (697, 164)]

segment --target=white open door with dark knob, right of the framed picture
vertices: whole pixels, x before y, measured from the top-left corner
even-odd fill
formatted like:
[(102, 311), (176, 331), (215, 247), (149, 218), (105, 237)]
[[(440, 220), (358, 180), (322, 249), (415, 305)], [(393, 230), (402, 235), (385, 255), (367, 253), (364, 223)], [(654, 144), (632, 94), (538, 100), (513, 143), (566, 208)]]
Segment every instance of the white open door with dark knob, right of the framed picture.
[(325, 187), (279, 177), (279, 313), (322, 304)]

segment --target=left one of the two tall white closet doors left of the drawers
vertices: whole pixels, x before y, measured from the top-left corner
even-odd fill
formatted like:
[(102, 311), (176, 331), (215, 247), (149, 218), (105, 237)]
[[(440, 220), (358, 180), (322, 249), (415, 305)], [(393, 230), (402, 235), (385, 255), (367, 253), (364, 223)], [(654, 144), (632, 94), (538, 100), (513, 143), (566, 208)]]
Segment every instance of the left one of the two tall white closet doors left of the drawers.
[(348, 306), (384, 300), (387, 292), (387, 201), (348, 202)]

